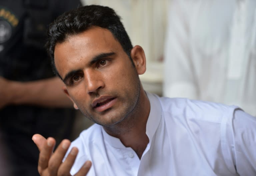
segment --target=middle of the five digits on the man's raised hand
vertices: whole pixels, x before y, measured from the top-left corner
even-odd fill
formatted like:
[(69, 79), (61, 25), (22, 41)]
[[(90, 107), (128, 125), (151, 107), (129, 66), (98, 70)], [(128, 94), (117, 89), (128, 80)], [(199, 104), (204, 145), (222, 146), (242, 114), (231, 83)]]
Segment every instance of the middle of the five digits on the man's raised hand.
[(50, 175), (57, 175), (58, 169), (68, 150), (68, 147), (70, 146), (70, 143), (71, 142), (68, 139), (64, 139), (52, 154), (48, 163)]

